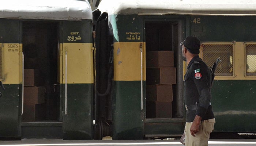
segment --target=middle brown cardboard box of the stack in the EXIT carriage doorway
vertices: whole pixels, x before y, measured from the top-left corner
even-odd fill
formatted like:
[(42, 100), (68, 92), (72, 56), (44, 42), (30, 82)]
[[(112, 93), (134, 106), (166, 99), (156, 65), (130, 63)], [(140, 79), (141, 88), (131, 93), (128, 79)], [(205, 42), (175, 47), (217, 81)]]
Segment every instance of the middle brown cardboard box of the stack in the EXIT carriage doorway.
[(44, 87), (24, 87), (24, 104), (45, 103)]

